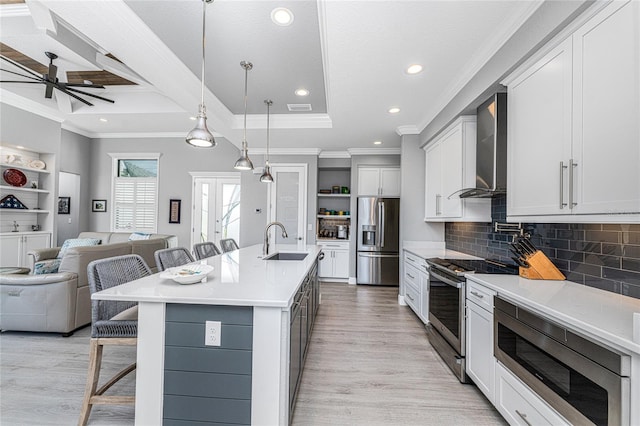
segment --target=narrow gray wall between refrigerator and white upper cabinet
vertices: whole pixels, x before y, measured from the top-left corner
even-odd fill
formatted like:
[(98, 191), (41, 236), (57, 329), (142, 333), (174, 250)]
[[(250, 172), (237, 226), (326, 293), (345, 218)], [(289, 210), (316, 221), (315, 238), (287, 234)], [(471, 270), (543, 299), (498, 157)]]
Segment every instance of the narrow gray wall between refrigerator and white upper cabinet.
[(444, 224), (424, 221), (425, 156), (418, 135), (402, 137), (401, 162), (401, 244), (403, 241), (444, 241)]

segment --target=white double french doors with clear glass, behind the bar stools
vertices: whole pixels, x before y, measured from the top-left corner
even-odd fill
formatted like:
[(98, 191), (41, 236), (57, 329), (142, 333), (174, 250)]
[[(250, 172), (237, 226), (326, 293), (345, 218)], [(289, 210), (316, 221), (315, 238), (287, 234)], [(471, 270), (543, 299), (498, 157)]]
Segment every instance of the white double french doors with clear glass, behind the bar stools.
[(223, 238), (240, 242), (240, 176), (193, 175), (191, 246)]

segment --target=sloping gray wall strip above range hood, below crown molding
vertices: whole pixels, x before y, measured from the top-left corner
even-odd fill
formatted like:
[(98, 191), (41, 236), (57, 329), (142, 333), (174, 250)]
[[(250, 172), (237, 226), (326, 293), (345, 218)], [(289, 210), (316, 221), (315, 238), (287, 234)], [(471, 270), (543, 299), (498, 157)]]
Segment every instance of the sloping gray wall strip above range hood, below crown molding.
[(489, 96), (504, 91), (499, 83), (526, 58), (550, 40), (592, 1), (545, 1), (516, 33), (478, 71), (473, 79), (436, 115), (420, 134), (422, 144), (461, 114), (475, 109)]

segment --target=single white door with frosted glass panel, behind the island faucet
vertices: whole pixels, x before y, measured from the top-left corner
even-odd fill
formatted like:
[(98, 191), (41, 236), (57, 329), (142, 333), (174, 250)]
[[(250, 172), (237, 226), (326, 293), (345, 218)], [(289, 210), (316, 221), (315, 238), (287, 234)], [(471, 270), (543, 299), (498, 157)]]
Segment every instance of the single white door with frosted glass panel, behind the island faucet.
[(271, 227), (271, 241), (277, 244), (307, 243), (307, 165), (272, 164), (274, 182), (269, 185), (269, 222), (281, 222), (288, 238)]

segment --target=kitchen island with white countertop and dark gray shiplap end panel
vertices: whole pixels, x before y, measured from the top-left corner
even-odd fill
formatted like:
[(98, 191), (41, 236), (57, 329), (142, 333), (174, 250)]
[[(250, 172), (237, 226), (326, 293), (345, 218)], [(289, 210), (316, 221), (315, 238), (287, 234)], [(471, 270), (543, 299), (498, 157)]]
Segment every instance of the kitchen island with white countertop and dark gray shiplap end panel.
[[(154, 274), (92, 296), (138, 302), (136, 425), (289, 423), (308, 343), (304, 330), (311, 330), (317, 309), (320, 250), (272, 251), (307, 256), (264, 260), (255, 245), (199, 261), (214, 268), (201, 283)], [(220, 346), (205, 345), (209, 321), (220, 323), (213, 336)]]

